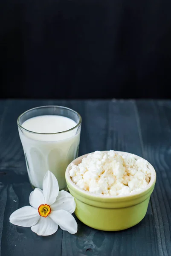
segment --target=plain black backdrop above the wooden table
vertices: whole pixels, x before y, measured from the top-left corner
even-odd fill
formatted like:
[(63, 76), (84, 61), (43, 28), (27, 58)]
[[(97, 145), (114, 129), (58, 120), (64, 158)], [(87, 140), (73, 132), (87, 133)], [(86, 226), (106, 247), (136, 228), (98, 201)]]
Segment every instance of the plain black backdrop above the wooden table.
[(0, 0), (0, 98), (171, 98), (170, 0)]

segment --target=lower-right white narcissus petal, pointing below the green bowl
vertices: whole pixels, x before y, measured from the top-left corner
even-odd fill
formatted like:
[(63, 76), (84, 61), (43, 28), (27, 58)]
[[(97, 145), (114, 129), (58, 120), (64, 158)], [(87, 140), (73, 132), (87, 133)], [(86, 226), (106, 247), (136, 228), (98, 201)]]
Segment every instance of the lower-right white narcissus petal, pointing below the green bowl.
[(77, 232), (77, 222), (75, 218), (65, 210), (52, 211), (49, 215), (62, 230), (67, 230), (71, 234)]

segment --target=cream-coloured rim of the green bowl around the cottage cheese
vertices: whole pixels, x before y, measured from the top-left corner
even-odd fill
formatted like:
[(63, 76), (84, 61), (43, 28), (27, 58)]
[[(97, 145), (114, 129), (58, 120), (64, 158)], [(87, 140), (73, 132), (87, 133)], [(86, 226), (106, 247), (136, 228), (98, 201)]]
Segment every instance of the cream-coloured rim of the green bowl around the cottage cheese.
[[(123, 154), (123, 155), (126, 155), (126, 154), (133, 154), (133, 153), (129, 153), (129, 152), (125, 152), (125, 151), (116, 151), (114, 150), (117, 154)], [(104, 152), (104, 153), (107, 153), (109, 152), (109, 150), (106, 150), (106, 151), (101, 151), (101, 152)], [(91, 153), (94, 153), (94, 152), (91, 152)], [(88, 153), (88, 154), (91, 154), (91, 153)], [(67, 184), (69, 184), (69, 186), (71, 186), (73, 189), (75, 189), (79, 195), (82, 195), (83, 197), (86, 197), (86, 198), (89, 198), (89, 199), (92, 199), (92, 200), (98, 200), (98, 199), (101, 199), (103, 201), (103, 199), (107, 200), (111, 200), (111, 199), (119, 199), (119, 200), (124, 200), (124, 199), (127, 199), (127, 198), (134, 198), (136, 196), (141, 196), (141, 195), (144, 195), (146, 192), (148, 192), (149, 190), (152, 189), (152, 187), (154, 188), (154, 185), (156, 183), (156, 172), (155, 172), (155, 169), (154, 167), (151, 165), (151, 163), (148, 162), (148, 168), (151, 170), (151, 179), (150, 179), (150, 182), (148, 183), (148, 185), (144, 188), (144, 189), (141, 189), (140, 191), (137, 191), (137, 192), (133, 192), (131, 193), (130, 195), (98, 195), (98, 194), (93, 194), (89, 191), (85, 191), (84, 189), (81, 189), (80, 187), (78, 187), (72, 180), (71, 180), (71, 177), (70, 177), (70, 174), (69, 174), (69, 170), (70, 170), (70, 167), (71, 167), (71, 164), (72, 163), (75, 163), (75, 162), (81, 162), (81, 160), (84, 158), (84, 157), (87, 157), (88, 154), (84, 154), (84, 155), (81, 155), (80, 157), (77, 157), (75, 158), (75, 160), (73, 160), (68, 166), (67, 166), (67, 169), (66, 169), (66, 172), (65, 172), (65, 178), (66, 178), (66, 181), (67, 181)], [(135, 159), (143, 159), (145, 160), (143, 157), (140, 157), (136, 154), (133, 154)], [(99, 200), (98, 200), (99, 201)]]

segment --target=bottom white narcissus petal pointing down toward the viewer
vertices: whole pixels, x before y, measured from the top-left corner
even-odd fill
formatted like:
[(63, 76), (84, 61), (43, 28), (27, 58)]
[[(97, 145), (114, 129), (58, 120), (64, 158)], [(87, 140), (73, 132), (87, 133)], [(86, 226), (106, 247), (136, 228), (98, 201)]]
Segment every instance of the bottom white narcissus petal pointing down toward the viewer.
[(41, 217), (38, 223), (31, 227), (31, 230), (38, 236), (50, 236), (58, 230), (58, 224), (52, 221), (49, 216)]

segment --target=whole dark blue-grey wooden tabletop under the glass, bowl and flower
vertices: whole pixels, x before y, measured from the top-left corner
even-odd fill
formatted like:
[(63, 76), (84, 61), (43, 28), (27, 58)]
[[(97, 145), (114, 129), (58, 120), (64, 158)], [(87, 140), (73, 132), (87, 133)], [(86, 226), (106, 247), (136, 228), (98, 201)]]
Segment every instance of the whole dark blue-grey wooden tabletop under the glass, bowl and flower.
[[(82, 224), (71, 235), (60, 228), (47, 237), (9, 223), (10, 214), (29, 205), (29, 184), (17, 117), (41, 105), (64, 105), (82, 116), (79, 155), (95, 150), (128, 151), (147, 159), (157, 183), (145, 218), (120, 232)], [(116, 220), (117, 221), (117, 220)], [(1, 100), (0, 254), (2, 256), (171, 256), (171, 101)]]

